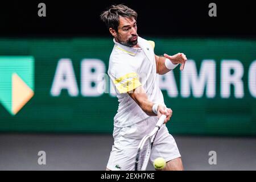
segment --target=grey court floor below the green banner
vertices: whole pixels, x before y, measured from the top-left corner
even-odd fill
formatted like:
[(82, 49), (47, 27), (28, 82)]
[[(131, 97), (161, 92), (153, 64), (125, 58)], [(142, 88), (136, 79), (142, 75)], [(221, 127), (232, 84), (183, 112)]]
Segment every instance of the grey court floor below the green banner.
[[(185, 170), (256, 170), (256, 138), (174, 138)], [(0, 134), (0, 170), (105, 170), (112, 144), (107, 134)], [(46, 165), (38, 164), (39, 151)], [(208, 163), (209, 151), (216, 151), (216, 165)]]

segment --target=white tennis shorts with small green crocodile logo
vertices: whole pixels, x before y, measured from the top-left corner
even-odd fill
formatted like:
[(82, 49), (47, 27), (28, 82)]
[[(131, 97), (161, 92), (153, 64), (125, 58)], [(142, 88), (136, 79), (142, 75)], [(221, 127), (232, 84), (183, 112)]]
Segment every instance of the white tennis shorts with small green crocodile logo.
[[(114, 145), (110, 152), (107, 168), (116, 171), (133, 171), (135, 169), (135, 156), (141, 139), (154, 129), (157, 117), (149, 117), (141, 122), (127, 127), (114, 127)], [(152, 146), (150, 163), (162, 157), (169, 160), (180, 157), (179, 149), (174, 137), (169, 134), (166, 125), (163, 125), (155, 137)]]

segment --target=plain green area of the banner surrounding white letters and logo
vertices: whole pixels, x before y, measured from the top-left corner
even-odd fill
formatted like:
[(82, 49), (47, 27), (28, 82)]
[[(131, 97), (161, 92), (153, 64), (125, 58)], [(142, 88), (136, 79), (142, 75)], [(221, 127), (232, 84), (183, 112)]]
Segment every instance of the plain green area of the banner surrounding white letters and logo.
[[(189, 60), (195, 61), (197, 73), (203, 60), (214, 60), (216, 64), (216, 94), (213, 98), (208, 98), (205, 92), (200, 98), (196, 98), (192, 92), (189, 97), (183, 97), (181, 72), (179, 68), (173, 71), (177, 96), (170, 97), (163, 90), (164, 100), (174, 112), (171, 121), (167, 123), (172, 134), (256, 135), (256, 101), (248, 86), (249, 68), (256, 60), (255, 40), (146, 39), (155, 42), (157, 55), (184, 52)], [(16, 115), (11, 115), (0, 104), (0, 131), (112, 133), (113, 117), (118, 107), (117, 98), (108, 93), (99, 97), (85, 97), (81, 94), (81, 60), (100, 59), (105, 63), (107, 71), (112, 48), (111, 38), (0, 39), (0, 56), (33, 56), (35, 60), (35, 95)], [(70, 96), (65, 89), (61, 90), (60, 96), (51, 95), (60, 59), (72, 60), (79, 88), (76, 97)], [(221, 97), (222, 60), (241, 62), (242, 98), (234, 97), (234, 86), (231, 86), (229, 98)], [(255, 81), (253, 84), (256, 84)]]

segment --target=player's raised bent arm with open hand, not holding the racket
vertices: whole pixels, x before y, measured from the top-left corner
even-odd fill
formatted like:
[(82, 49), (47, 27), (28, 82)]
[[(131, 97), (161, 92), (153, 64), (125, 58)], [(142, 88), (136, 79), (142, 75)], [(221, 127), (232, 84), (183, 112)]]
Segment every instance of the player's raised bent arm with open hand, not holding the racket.
[(159, 75), (164, 75), (170, 70), (177, 67), (177, 65), (181, 64), (180, 70), (184, 69), (185, 63), (187, 61), (186, 55), (184, 53), (177, 53), (176, 55), (169, 56), (166, 53), (164, 56), (155, 55), (156, 62), (156, 73)]

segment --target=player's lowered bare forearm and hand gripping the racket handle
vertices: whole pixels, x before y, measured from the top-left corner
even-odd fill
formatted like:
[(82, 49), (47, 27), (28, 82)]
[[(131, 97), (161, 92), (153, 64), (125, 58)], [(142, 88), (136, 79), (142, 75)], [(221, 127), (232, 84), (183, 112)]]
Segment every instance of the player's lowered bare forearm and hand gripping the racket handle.
[[(153, 105), (155, 104), (154, 102), (148, 101), (147, 93), (143, 89), (142, 86), (138, 86), (134, 90), (127, 92), (131, 98), (141, 107), (141, 109), (146, 113), (147, 115), (154, 116), (156, 115), (154, 111), (152, 110)], [(166, 120), (164, 123), (170, 120), (172, 116), (172, 110), (171, 109), (166, 109), (165, 106), (163, 105), (158, 105), (157, 108), (158, 111), (158, 117), (160, 115), (165, 114), (167, 115)]]

